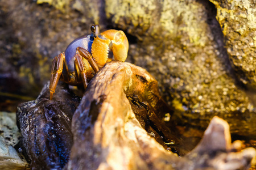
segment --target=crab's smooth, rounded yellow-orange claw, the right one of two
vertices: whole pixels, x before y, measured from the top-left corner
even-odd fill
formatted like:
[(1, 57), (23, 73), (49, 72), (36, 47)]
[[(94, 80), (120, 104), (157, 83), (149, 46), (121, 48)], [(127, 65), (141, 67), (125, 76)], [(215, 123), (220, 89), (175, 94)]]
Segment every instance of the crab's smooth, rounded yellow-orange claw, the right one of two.
[(114, 59), (124, 62), (127, 58), (127, 53), (129, 49), (129, 42), (125, 33), (123, 31), (109, 29), (102, 32), (101, 35), (111, 40)]

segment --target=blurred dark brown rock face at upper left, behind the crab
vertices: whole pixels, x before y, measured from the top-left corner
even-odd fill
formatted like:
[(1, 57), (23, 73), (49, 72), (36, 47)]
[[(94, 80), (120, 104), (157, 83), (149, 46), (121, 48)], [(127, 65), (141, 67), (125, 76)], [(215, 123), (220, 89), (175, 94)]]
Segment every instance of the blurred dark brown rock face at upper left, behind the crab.
[[(99, 4), (97, 1), (2, 1), (0, 83), (6, 99), (24, 98), (24, 102), (38, 96), (50, 79), (52, 58), (64, 52), (77, 37), (91, 33), (90, 26), (100, 18), (97, 16), (100, 9), (96, 10)], [(84, 16), (77, 6), (82, 7)], [(104, 27), (102, 24), (102, 30)], [(9, 86), (3, 86), (6, 84)]]

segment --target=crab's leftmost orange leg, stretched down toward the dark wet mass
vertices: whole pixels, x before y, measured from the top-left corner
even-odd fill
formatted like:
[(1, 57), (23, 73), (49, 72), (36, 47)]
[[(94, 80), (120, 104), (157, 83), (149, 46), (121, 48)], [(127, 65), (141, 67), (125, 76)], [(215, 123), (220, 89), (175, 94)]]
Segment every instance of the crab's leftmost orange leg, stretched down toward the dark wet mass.
[(49, 84), (50, 100), (52, 100), (52, 96), (55, 92), (57, 83), (59, 82), (60, 76), (62, 74), (63, 61), (64, 61), (63, 53), (59, 54), (59, 56), (55, 57), (52, 61), (51, 81)]

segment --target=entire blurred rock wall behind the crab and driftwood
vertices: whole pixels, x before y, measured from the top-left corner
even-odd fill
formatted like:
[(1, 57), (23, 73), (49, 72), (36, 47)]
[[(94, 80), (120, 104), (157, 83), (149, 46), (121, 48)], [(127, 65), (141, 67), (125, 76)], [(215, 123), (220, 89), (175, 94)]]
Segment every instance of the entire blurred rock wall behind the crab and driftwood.
[(229, 122), (233, 140), (254, 146), (255, 3), (0, 0), (0, 111), (16, 112), (19, 103), (36, 99), (52, 58), (99, 24), (101, 32), (123, 30), (126, 61), (158, 80), (174, 110), (167, 124), (200, 138), (217, 115)]

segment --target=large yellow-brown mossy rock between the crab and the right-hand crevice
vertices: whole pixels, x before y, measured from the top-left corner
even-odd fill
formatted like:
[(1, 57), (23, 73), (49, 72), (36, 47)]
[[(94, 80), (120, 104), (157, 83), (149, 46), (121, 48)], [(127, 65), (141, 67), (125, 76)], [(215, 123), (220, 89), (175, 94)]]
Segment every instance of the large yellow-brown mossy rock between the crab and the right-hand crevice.
[(206, 128), (218, 115), (232, 133), (254, 134), (253, 103), (239, 86), (209, 2), (108, 2), (107, 16), (138, 38), (130, 46), (132, 61), (158, 80), (182, 124)]

